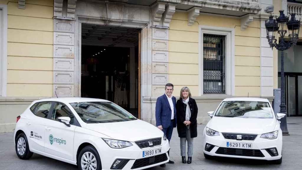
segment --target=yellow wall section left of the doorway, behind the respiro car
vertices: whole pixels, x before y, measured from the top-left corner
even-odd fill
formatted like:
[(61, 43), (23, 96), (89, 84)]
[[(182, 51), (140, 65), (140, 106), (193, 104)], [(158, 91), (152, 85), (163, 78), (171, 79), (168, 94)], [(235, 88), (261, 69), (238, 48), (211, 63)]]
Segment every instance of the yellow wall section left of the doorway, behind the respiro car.
[(53, 0), (17, 0), (7, 5), (7, 95), (0, 97), (0, 132), (12, 131), (16, 117), (33, 100), (53, 91)]

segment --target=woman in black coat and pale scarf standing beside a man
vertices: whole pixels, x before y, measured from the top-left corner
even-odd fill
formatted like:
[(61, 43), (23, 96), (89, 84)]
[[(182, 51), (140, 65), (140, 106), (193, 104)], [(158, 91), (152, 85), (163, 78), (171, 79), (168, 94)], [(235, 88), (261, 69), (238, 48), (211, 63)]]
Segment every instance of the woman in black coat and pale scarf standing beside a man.
[[(176, 102), (177, 132), (180, 137), (180, 154), (182, 163), (190, 164), (193, 155), (193, 139), (197, 137), (198, 108), (188, 87), (180, 90), (179, 100)], [(186, 142), (188, 142), (188, 161), (186, 161)]]

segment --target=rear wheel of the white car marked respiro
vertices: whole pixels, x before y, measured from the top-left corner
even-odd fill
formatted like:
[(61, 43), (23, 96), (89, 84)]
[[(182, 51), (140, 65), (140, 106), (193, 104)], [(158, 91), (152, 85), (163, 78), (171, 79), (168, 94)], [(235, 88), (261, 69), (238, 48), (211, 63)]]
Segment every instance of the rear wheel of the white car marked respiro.
[(29, 150), (28, 140), (24, 133), (17, 136), (15, 143), (16, 153), (20, 159), (30, 159), (34, 154)]

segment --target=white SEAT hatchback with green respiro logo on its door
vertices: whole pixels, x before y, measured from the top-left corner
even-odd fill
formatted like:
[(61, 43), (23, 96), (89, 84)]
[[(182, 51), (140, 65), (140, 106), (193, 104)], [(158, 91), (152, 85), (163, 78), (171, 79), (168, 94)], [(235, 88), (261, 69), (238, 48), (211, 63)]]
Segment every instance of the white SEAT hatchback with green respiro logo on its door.
[(17, 117), (16, 153), (33, 152), (80, 170), (145, 169), (169, 162), (169, 142), (157, 127), (101, 99), (34, 101)]

